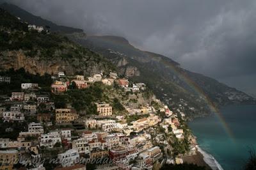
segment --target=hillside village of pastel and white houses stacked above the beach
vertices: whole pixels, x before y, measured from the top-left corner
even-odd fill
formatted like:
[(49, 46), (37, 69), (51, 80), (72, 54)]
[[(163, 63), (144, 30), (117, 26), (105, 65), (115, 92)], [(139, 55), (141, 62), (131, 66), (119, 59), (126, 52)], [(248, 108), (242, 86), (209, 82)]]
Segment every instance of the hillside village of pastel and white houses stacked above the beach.
[[(0, 78), (6, 86), (15, 79)], [(129, 82), (113, 72), (92, 77), (70, 77), (59, 72), (51, 79), (48, 95), (38, 95), (42, 88), (36, 82), (24, 82), (20, 91), (12, 91), (9, 98), (2, 96), (1, 124), (6, 133), (0, 139), (0, 157), (13, 160), (1, 159), (3, 169), (76, 169), (84, 167), (86, 161), (96, 163), (102, 158), (107, 164), (96, 169), (155, 169), (163, 162), (181, 164), (183, 155), (196, 154), (195, 139), (183, 124), (184, 114), (173, 112), (142, 82)], [(77, 112), (70, 104), (56, 107), (56, 96), (94, 88), (96, 84), (107, 89), (102, 93), (115, 97), (115, 102), (93, 103), (97, 114)], [(111, 90), (115, 92), (112, 95)], [(129, 98), (120, 100), (122, 94)], [(17, 138), (12, 134), (13, 123), (26, 125), (18, 127)], [(35, 158), (44, 162), (33, 164)], [(50, 164), (51, 158), (58, 159), (58, 163)], [(17, 159), (26, 160), (26, 164)]]

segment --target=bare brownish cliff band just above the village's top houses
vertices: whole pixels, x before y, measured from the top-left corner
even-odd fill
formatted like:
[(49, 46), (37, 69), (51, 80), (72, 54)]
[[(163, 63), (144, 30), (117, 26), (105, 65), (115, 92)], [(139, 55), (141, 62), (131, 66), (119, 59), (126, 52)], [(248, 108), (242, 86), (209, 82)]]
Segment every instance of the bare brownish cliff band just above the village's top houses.
[(77, 72), (84, 75), (92, 75), (101, 71), (106, 71), (104, 63), (88, 61), (84, 58), (60, 58), (55, 57), (45, 59), (40, 57), (28, 57), (23, 50), (13, 50), (0, 52), (0, 70), (8, 70), (14, 68), (24, 68), (29, 73), (56, 74), (58, 72), (66, 72), (67, 75), (74, 75)]

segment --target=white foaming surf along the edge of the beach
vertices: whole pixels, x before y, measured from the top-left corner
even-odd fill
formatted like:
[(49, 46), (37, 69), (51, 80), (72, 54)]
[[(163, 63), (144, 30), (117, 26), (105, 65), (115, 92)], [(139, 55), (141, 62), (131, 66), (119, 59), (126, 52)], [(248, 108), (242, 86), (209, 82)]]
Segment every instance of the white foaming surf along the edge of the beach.
[(198, 145), (196, 146), (196, 148), (198, 148), (198, 151), (202, 153), (205, 163), (208, 164), (212, 170), (223, 170), (219, 162), (211, 154), (202, 150)]

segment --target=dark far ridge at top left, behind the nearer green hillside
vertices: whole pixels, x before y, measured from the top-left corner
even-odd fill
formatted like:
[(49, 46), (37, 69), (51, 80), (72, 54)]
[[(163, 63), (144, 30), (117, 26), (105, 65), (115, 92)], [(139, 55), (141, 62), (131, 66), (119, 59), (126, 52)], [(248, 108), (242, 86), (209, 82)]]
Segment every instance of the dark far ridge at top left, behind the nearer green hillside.
[[(1, 3), (1, 2), (0, 2)], [(60, 32), (60, 33), (83, 33), (83, 29), (77, 29), (73, 27), (67, 26), (58, 26), (49, 20), (42, 19), (41, 17), (35, 16), (25, 10), (19, 8), (19, 6), (15, 6), (14, 4), (3, 3), (0, 4), (0, 8), (6, 10), (11, 13), (15, 17), (19, 17), (20, 19), (28, 22), (29, 24), (35, 24), (36, 26), (49, 26), (52, 32)]]

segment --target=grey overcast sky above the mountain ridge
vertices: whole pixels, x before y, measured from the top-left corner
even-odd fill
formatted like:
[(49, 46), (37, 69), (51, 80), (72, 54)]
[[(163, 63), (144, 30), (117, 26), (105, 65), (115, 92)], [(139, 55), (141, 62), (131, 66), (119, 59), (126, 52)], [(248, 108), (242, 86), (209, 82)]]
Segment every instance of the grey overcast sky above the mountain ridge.
[(119, 35), (256, 95), (254, 0), (11, 0), (56, 24)]

